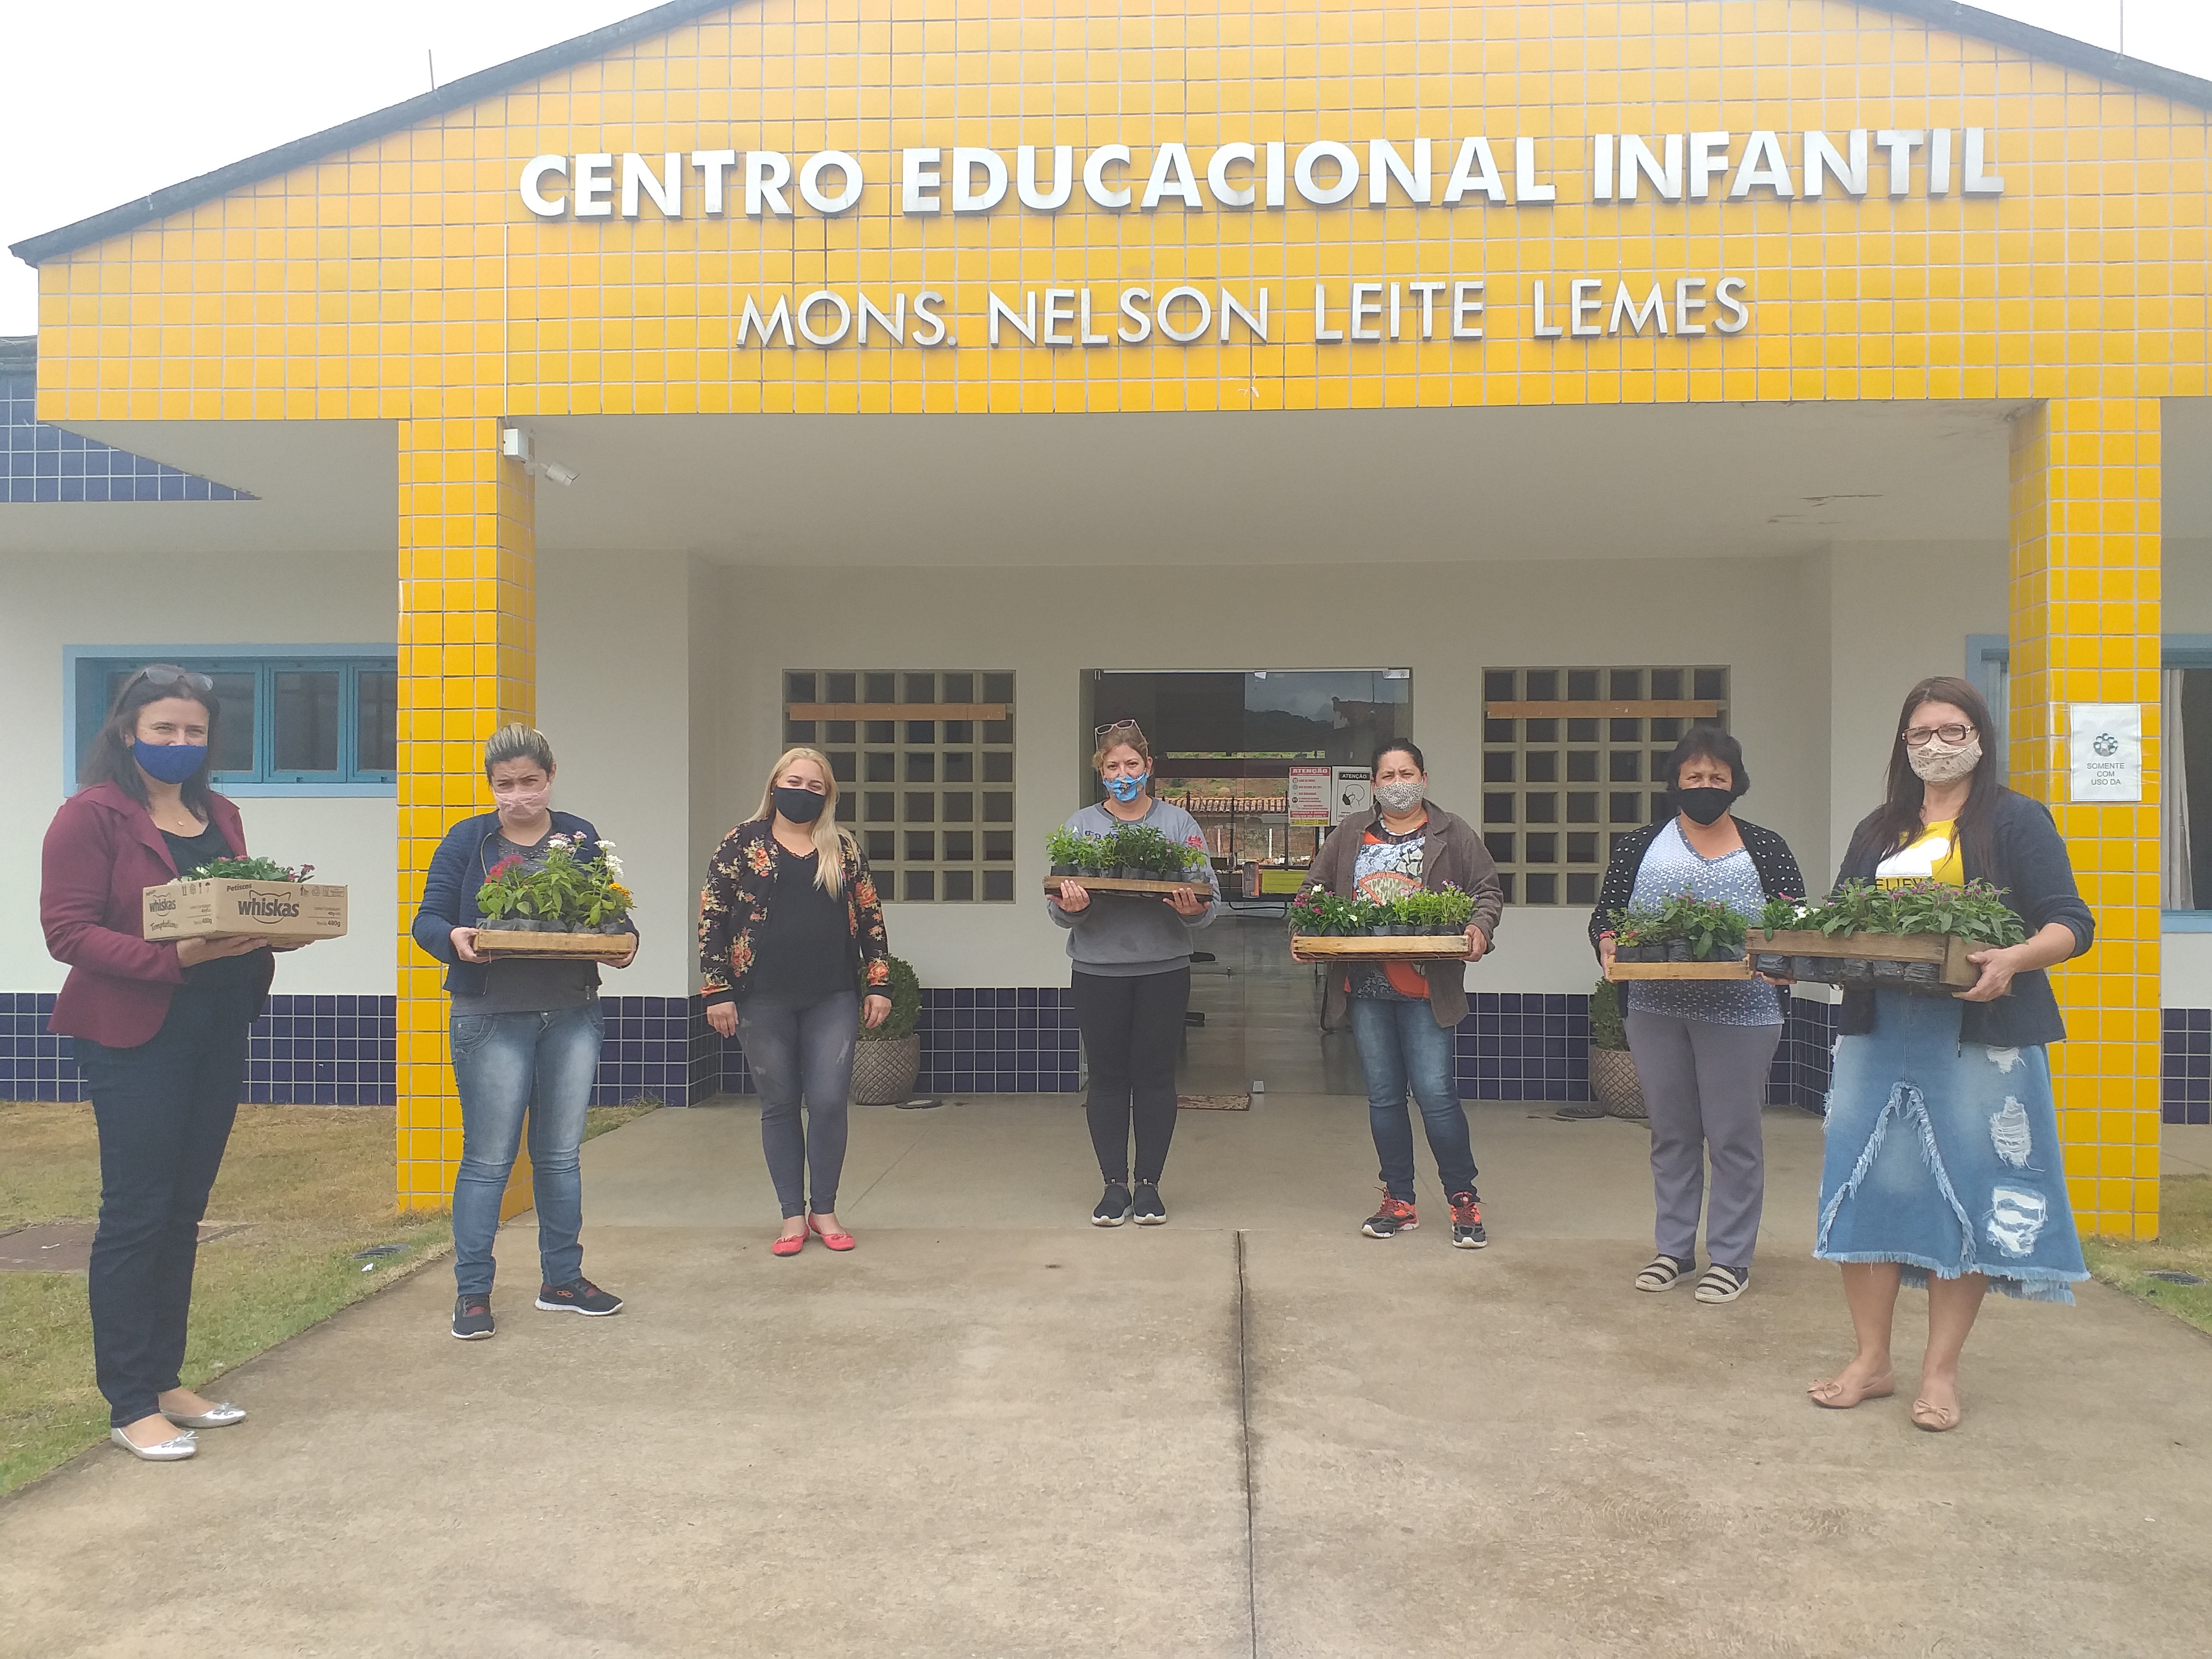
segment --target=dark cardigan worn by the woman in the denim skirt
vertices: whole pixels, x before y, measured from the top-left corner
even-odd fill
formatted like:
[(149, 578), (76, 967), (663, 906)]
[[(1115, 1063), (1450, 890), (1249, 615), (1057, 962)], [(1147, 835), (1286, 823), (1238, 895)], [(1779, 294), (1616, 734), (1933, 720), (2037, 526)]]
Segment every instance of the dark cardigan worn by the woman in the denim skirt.
[[(1874, 880), (1874, 872), (1887, 849), (1867, 845), (1874, 814), (1851, 832), (1851, 847), (1843, 854), (1836, 885), (1847, 880)], [(2004, 887), (2004, 902), (2035, 938), (2051, 922), (2066, 922), (2075, 933), (2073, 956), (2081, 956), (2097, 938), (2097, 918), (2073, 880), (2073, 860), (2059, 827), (2051, 821), (2051, 807), (2031, 801), (2013, 790), (1997, 792), (1991, 823), (1991, 867), (1982, 869), (1973, 847), (1960, 847), (1960, 863), (1966, 880), (1986, 878)], [(2064, 1042), (2066, 1022), (2059, 1018), (2059, 1000), (2051, 993), (2051, 975), (2042, 969), (2013, 975), (2011, 995), (1995, 1002), (1962, 1002), (1960, 1042), (1980, 1042), (1991, 1048), (2026, 1048), (2039, 1042)], [(1867, 987), (1845, 987), (1838, 1033), (1863, 1037), (1874, 1031), (1874, 991)]]

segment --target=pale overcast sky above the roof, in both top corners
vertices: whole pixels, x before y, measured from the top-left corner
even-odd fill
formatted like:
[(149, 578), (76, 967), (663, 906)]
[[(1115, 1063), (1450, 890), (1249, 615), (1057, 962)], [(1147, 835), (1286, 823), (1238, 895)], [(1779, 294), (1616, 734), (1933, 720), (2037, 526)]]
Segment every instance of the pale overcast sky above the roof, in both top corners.
[[(104, 0), (4, 24), (0, 248), (599, 29), (646, 0)], [(1984, 0), (2044, 29), (2212, 77), (2212, 0)], [(2126, 40), (2121, 40), (2126, 29)], [(0, 334), (38, 327), (35, 276), (0, 254)]]

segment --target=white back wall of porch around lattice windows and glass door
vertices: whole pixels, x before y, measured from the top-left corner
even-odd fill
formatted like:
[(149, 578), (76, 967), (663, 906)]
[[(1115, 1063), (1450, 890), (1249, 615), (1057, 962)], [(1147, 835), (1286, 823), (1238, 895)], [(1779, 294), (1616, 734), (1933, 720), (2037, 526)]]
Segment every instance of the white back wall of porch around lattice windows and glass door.
[[(1745, 812), (1794, 843), (1825, 832), (1825, 712), (1803, 684), (1809, 626), (1794, 560), (1438, 564), (1237, 571), (1188, 580), (1124, 568), (1108, 602), (1079, 571), (714, 571), (726, 626), (695, 675), (728, 719), (719, 823), (759, 801), (781, 732), (785, 668), (1011, 668), (1015, 907), (887, 905), (891, 947), (925, 984), (1057, 984), (1064, 936), (1044, 918), (1042, 841), (1075, 796), (1086, 668), (1413, 668), (1413, 734), (1433, 794), (1475, 810), (1482, 668), (1721, 661), (1754, 792)], [(1951, 657), (1958, 653), (1953, 650)], [(1889, 717), (1882, 714), (1887, 721)], [(1506, 911), (1484, 984), (1586, 991), (1586, 911)]]

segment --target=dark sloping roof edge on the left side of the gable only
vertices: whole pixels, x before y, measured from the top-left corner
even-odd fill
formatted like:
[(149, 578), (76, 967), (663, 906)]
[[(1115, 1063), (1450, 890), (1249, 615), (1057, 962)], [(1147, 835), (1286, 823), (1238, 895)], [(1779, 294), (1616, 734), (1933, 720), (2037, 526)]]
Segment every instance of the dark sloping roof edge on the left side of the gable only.
[(243, 161), (215, 168), (215, 173), (201, 173), (197, 179), (164, 186), (139, 197), (137, 201), (126, 201), (119, 208), (95, 212), (91, 219), (77, 219), (75, 223), (60, 226), (58, 230), (24, 237), (22, 241), (11, 243), (9, 252), (27, 265), (40, 265), (58, 254), (69, 254), (77, 248), (88, 248), (95, 241), (119, 237), (126, 230), (137, 230), (153, 219), (166, 219), (173, 212), (197, 208), (215, 197), (243, 190), (250, 184), (274, 179), (279, 173), (290, 173), (296, 166), (321, 161), (325, 155), (336, 155), (338, 150), (349, 150), (356, 144), (389, 137), (392, 133), (405, 131), (416, 122), (429, 119), (431, 115), (449, 115), (451, 111), (478, 104), (484, 97), (504, 93), (522, 82), (551, 75), (557, 69), (571, 69), (588, 62), (591, 58), (602, 58), (617, 46), (628, 46), (635, 40), (666, 33), (708, 11), (732, 11), (737, 4), (741, 4), (741, 0), (672, 0), (670, 4), (653, 7), (653, 11), (639, 11), (635, 18), (624, 18), (622, 22), (611, 22), (604, 29), (573, 35), (571, 40), (542, 46), (540, 51), (522, 58), (511, 58), (504, 64), (480, 69), (473, 75), (462, 75), (460, 80), (447, 82), (436, 91), (422, 93), (420, 97), (409, 97), (403, 104), (389, 104), (380, 111), (372, 111), (369, 115), (356, 115), (352, 122), (325, 126), (321, 133), (310, 133), (307, 137), (292, 139), (290, 144), (279, 144), (274, 150), (248, 155)]

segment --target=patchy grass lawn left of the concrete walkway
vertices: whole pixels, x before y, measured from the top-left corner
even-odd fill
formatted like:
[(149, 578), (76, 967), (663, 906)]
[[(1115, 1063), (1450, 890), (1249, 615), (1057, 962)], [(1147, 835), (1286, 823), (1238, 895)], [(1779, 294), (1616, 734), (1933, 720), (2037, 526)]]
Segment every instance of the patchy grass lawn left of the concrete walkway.
[[(595, 1106), (591, 1135), (650, 1104)], [(241, 1106), (199, 1248), (186, 1387), (204, 1387), (451, 1248), (445, 1217), (400, 1217), (389, 1106)], [(0, 1230), (100, 1214), (91, 1106), (0, 1104)], [(403, 1245), (363, 1272), (356, 1250)], [(0, 1272), (0, 1493), (106, 1433), (84, 1274)]]

